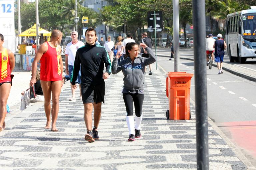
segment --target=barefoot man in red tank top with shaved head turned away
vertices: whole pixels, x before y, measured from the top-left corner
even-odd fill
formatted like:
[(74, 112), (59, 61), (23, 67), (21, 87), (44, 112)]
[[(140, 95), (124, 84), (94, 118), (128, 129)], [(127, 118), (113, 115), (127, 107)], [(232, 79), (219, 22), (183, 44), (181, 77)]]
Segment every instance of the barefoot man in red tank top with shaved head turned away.
[(32, 63), (32, 78), (30, 80), (30, 86), (35, 84), (37, 62), (41, 59), (40, 80), (44, 94), (44, 110), (47, 119), (45, 128), (50, 128), (52, 115), (51, 131), (58, 131), (56, 128), (56, 121), (59, 112), (59, 96), (62, 87), (63, 71), (61, 47), (59, 45), (61, 39), (62, 33), (59, 30), (53, 30), (51, 40), (49, 42), (44, 42), (39, 46)]

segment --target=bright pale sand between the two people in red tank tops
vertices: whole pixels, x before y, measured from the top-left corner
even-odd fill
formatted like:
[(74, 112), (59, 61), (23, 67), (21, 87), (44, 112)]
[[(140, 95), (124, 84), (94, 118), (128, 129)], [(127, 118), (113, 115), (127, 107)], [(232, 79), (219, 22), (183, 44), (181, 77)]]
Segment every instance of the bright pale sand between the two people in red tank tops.
[(17, 103), (20, 103), (21, 92), (29, 88), (31, 71), (14, 70), (12, 79), (11, 92), (7, 104), (12, 108)]

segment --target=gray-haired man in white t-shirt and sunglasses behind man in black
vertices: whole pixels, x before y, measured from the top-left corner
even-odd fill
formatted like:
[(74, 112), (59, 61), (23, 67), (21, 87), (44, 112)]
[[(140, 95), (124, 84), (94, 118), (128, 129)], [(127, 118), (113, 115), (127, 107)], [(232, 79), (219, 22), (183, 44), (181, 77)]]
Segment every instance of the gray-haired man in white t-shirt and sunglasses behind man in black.
[[(78, 48), (84, 46), (84, 43), (79, 41), (77, 39), (78, 37), (78, 33), (76, 31), (72, 31), (71, 32), (71, 39), (72, 41), (69, 42), (67, 44), (67, 47), (66, 47), (66, 51), (65, 51), (65, 66), (66, 66), (66, 75), (64, 76), (64, 78), (66, 80), (70, 80), (71, 77), (72, 77), (72, 74), (73, 74), (73, 67), (74, 67), (74, 61), (75, 61), (75, 57), (76, 57), (76, 51)], [(80, 88), (80, 99), (82, 99), (82, 96), (81, 96), (81, 79), (80, 79), (80, 76), (81, 76), (81, 72), (79, 71), (78, 73), (78, 76), (77, 76), (77, 83), (79, 84), (79, 88)], [(65, 81), (64, 79), (64, 81)], [(75, 90), (71, 87), (71, 92), (72, 92), (72, 97), (69, 99), (69, 101), (75, 101), (76, 98), (75, 98)]]

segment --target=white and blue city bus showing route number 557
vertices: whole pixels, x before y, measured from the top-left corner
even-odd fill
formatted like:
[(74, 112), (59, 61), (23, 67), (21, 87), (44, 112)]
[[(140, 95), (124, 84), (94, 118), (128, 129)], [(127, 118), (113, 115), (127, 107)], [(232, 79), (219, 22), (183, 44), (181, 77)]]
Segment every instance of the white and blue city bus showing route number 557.
[(256, 58), (256, 7), (229, 14), (226, 20), (226, 43), (230, 62), (244, 63)]

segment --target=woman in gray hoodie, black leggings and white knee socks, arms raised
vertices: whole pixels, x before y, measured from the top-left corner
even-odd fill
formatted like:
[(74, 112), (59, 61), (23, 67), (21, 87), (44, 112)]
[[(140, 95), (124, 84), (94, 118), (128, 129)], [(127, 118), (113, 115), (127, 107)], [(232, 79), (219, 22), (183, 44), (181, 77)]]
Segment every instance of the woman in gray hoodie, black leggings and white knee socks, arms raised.
[[(113, 60), (112, 73), (116, 74), (122, 70), (124, 74), (124, 86), (123, 86), (123, 99), (126, 107), (126, 122), (129, 129), (128, 141), (134, 141), (135, 138), (140, 138), (140, 124), (142, 121), (142, 105), (144, 100), (144, 71), (145, 66), (152, 64), (156, 61), (156, 56), (153, 51), (144, 43), (140, 43), (140, 46), (145, 49), (149, 54), (149, 58), (141, 57), (139, 55), (139, 46), (135, 42), (129, 42), (125, 46), (126, 59), (117, 61), (120, 57), (119, 54)], [(135, 129), (133, 119), (133, 102), (135, 108)]]

